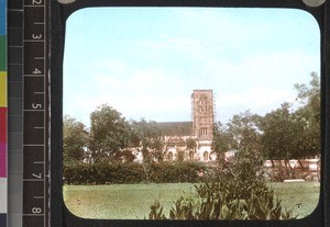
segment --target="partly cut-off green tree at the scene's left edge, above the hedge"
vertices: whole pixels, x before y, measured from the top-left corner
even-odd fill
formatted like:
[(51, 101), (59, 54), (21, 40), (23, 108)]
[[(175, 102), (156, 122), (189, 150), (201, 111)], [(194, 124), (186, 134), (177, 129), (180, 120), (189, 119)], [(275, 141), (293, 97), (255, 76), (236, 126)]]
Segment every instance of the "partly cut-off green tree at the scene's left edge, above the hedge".
[(64, 164), (80, 162), (88, 145), (86, 126), (65, 115), (63, 118), (63, 159)]

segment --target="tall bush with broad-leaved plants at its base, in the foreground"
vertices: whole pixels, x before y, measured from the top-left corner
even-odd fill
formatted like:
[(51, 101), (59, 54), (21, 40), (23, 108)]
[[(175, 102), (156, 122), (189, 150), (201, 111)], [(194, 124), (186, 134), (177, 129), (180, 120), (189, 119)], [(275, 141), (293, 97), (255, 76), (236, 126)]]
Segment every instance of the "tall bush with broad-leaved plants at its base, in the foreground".
[(158, 201), (151, 206), (151, 219), (290, 219), (292, 211), (282, 209), (263, 179), (261, 156), (256, 150), (240, 150), (228, 168), (195, 185), (198, 198), (179, 197), (169, 215)]

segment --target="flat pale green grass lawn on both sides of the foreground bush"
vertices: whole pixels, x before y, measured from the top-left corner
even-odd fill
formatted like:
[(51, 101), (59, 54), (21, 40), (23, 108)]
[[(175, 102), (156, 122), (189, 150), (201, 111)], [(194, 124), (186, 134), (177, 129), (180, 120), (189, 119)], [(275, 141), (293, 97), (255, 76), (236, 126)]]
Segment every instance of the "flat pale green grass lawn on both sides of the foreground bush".
[[(270, 183), (270, 186), (300, 218), (310, 214), (318, 204), (317, 182)], [(183, 193), (196, 196), (190, 183), (65, 185), (63, 191), (64, 202), (73, 214), (99, 219), (147, 219), (150, 205), (156, 198), (168, 216), (173, 201)]]

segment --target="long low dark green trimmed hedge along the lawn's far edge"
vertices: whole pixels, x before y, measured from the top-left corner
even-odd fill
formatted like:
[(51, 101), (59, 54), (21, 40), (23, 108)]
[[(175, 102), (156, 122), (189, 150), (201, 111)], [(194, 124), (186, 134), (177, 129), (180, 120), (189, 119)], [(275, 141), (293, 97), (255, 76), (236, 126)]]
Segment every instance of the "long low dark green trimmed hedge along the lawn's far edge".
[(64, 167), (66, 184), (178, 183), (198, 182), (198, 162), (95, 163)]

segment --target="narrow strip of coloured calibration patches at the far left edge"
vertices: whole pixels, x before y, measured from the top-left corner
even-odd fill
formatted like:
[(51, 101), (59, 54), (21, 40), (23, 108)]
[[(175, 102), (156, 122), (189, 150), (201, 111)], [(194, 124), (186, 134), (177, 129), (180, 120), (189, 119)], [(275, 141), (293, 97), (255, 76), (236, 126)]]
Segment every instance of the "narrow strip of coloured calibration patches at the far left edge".
[(7, 2), (0, 0), (0, 226), (7, 226)]

